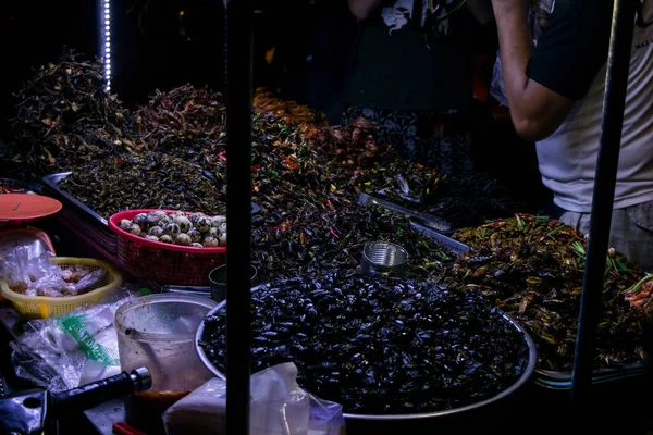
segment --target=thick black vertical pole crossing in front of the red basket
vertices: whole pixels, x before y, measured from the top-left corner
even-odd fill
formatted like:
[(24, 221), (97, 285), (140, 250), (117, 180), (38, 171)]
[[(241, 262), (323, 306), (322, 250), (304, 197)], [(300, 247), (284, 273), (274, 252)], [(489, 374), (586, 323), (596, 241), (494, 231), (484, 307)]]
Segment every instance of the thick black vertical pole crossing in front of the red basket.
[(226, 433), (249, 433), (251, 240), (250, 0), (226, 4)]

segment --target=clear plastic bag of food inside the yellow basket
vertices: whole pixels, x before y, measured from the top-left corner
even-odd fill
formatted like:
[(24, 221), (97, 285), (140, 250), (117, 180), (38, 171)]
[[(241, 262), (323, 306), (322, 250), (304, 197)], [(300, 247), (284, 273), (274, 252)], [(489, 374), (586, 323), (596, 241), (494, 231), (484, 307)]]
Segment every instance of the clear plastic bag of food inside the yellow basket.
[(90, 271), (85, 266), (61, 269), (52, 262), (52, 252), (33, 254), (27, 246), (17, 246), (4, 257), (0, 276), (9, 287), (27, 296), (76, 296), (104, 277), (107, 271)]

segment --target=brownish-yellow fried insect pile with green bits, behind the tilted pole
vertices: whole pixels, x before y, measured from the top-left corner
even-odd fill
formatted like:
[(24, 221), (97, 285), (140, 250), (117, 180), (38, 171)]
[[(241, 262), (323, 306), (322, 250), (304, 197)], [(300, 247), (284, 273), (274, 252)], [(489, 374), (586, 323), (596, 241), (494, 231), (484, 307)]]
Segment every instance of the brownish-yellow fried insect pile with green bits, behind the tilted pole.
[[(529, 330), (539, 366), (570, 371), (582, 290), (586, 240), (552, 219), (517, 214), (454, 236), (475, 248), (456, 262), (456, 281), (482, 291)], [(596, 340), (596, 369), (640, 361), (643, 313), (624, 291), (643, 273), (611, 250)]]

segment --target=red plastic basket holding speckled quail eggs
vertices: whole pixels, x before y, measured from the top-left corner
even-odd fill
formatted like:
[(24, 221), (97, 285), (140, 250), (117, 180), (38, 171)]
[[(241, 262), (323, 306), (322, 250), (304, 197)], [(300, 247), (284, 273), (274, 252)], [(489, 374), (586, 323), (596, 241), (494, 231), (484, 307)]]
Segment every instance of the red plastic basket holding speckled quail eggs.
[[(138, 213), (157, 209), (121, 211), (109, 217), (109, 228), (118, 236), (118, 258), (132, 275), (158, 284), (208, 285), (209, 273), (226, 261), (226, 248), (195, 248), (170, 245), (135, 236), (118, 225)], [(162, 210), (170, 214), (175, 210)], [(192, 214), (190, 212), (186, 212)]]

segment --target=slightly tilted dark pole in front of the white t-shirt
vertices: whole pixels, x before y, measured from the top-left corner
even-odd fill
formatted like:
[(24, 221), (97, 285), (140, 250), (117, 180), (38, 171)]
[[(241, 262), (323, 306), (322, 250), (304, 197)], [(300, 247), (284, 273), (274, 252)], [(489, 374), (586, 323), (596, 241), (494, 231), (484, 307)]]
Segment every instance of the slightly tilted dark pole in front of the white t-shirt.
[(578, 417), (581, 418), (587, 417), (584, 411), (589, 411), (591, 398), (594, 346), (615, 199), (636, 1), (638, 0), (615, 0), (613, 11), (601, 140), (571, 376), (571, 410), (578, 412)]

